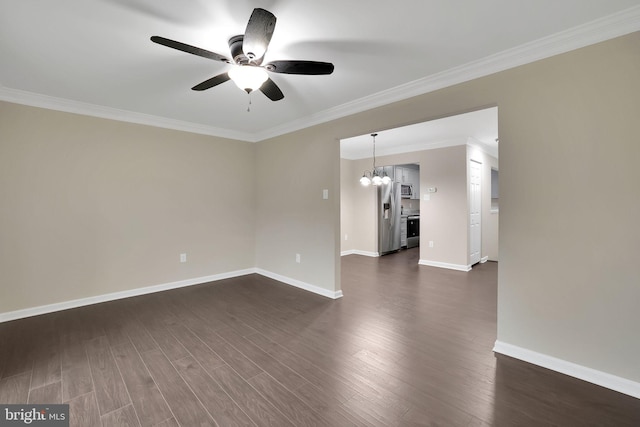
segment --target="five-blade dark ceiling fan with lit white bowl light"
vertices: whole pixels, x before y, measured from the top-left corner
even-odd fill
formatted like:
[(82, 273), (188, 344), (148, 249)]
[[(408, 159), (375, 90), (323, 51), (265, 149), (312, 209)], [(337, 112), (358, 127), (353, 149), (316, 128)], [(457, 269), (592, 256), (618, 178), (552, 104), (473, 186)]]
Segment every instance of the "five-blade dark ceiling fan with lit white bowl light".
[(262, 65), (275, 26), (276, 17), (271, 12), (260, 8), (254, 9), (244, 35), (229, 39), (229, 49), (233, 59), (160, 36), (151, 37), (151, 41), (172, 49), (233, 65), (233, 68), (228, 72), (218, 74), (195, 85), (191, 88), (193, 90), (210, 89), (227, 80), (232, 80), (247, 93), (259, 89), (270, 100), (279, 101), (284, 98), (284, 94), (269, 78), (267, 71), (281, 74), (324, 75), (333, 72), (333, 64), (318, 61), (271, 61)]

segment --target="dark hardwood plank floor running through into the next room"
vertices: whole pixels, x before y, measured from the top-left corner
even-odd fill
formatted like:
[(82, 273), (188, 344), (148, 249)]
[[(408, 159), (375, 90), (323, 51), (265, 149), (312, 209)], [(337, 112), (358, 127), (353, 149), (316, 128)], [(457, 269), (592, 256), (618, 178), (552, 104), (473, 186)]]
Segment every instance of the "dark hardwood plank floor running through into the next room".
[(72, 426), (638, 426), (640, 400), (496, 357), (497, 264), (342, 258), (332, 301), (250, 275), (0, 324), (0, 403)]

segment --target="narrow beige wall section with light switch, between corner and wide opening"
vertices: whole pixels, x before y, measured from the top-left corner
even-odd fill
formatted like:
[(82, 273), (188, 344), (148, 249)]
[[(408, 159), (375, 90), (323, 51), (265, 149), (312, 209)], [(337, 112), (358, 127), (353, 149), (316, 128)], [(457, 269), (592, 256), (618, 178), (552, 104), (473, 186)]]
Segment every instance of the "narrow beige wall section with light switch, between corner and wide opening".
[(329, 292), (340, 289), (339, 157), (340, 142), (313, 131), (256, 144), (259, 269)]

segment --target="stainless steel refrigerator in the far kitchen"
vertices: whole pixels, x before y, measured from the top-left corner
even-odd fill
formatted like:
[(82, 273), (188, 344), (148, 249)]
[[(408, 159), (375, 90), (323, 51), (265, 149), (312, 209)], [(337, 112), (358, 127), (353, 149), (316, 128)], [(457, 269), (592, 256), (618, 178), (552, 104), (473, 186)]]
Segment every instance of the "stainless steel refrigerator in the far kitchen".
[(386, 255), (400, 249), (400, 183), (378, 187), (378, 253)]

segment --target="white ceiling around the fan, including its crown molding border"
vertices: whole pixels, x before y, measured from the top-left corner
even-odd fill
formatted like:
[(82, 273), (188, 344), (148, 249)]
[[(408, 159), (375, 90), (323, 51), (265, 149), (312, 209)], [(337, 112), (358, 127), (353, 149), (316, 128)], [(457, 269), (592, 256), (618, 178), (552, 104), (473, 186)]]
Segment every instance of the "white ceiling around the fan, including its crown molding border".
[[(332, 62), (329, 76), (272, 74), (272, 102), (229, 65), (152, 43), (229, 55), (254, 7), (277, 25), (266, 61)], [(259, 141), (640, 30), (638, 0), (2, 0), (0, 99)]]

